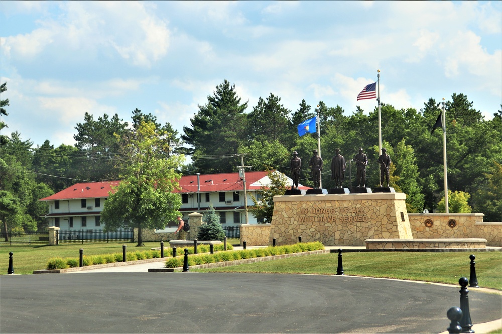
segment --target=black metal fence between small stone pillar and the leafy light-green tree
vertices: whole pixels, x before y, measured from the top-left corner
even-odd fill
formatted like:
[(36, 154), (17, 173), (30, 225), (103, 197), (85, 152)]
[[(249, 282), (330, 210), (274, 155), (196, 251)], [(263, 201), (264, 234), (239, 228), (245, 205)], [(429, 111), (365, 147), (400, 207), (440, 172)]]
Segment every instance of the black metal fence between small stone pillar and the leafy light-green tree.
[(58, 243), (88, 243), (88, 242), (133, 242), (132, 229), (117, 229), (114, 232), (102, 230), (71, 230), (58, 231)]

